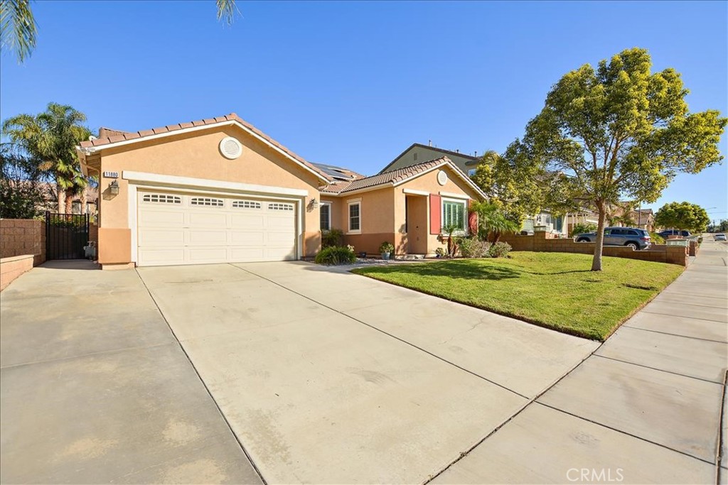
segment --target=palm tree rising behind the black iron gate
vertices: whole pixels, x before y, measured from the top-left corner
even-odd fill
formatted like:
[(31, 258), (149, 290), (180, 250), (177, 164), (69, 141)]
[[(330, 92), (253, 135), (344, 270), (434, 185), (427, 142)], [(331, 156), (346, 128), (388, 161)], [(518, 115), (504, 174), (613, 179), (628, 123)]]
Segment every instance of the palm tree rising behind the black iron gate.
[(66, 213), (70, 213), (74, 196), (88, 185), (76, 155), (76, 145), (91, 135), (84, 121), (86, 115), (71, 106), (48, 103), (43, 113), (12, 116), (2, 124), (3, 134), (41, 161), (39, 169), (55, 180), (58, 212), (65, 199)]

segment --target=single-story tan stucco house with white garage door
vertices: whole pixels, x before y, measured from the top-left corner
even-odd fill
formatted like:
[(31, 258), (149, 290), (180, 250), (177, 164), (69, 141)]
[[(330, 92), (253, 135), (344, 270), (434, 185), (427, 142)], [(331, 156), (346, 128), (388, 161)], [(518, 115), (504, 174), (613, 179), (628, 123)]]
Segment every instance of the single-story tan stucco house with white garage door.
[(395, 254), (434, 254), (443, 225), (467, 233), (470, 201), (485, 198), (447, 157), (336, 177), (234, 113), (99, 135), (78, 151), (99, 178), (106, 269), (314, 257), (322, 223), (356, 252), (389, 241)]

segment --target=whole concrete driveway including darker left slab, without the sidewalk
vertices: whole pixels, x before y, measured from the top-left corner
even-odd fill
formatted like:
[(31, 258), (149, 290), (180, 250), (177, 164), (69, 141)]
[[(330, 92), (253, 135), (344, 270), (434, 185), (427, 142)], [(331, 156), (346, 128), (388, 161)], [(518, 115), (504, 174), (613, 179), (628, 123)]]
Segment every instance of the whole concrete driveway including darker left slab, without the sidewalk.
[(597, 348), (304, 262), (86, 268), (2, 293), (3, 483), (421, 483)]

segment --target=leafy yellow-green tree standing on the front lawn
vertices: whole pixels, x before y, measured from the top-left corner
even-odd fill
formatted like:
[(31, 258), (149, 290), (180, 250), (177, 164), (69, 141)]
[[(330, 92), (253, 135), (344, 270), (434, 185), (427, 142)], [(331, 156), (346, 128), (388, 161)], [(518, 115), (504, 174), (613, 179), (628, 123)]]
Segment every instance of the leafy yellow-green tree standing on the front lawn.
[(680, 74), (652, 73), (645, 49), (627, 49), (582, 65), (551, 89), (526, 127), (518, 152), (598, 214), (592, 270), (602, 268), (604, 225), (610, 204), (654, 202), (677, 172), (697, 173), (723, 158), (726, 125), (718, 111), (689, 113)]

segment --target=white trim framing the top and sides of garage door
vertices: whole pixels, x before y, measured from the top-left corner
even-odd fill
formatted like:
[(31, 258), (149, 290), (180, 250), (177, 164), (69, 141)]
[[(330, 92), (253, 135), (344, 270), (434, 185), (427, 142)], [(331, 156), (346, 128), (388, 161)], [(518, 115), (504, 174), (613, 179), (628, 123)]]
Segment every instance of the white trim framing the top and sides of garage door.
[[(134, 175), (133, 178), (128, 177), (130, 175)], [(195, 180), (197, 183), (194, 183), (194, 185), (166, 185), (164, 183), (159, 184), (157, 180), (141, 180), (139, 175), (154, 175), (154, 178), (159, 180), (160, 178), (162, 180), (174, 180), (178, 181), (180, 179), (184, 180)], [(182, 193), (209, 193), (214, 194), (218, 196), (236, 196), (236, 197), (245, 197), (245, 196), (255, 196), (257, 199), (277, 199), (277, 200), (285, 200), (290, 201), (293, 204), (296, 204), (296, 259), (301, 259), (303, 257), (303, 248), (304, 248), (304, 197), (305, 196), (290, 196), (286, 193), (279, 193), (276, 192), (277, 189), (282, 189), (283, 191), (296, 191), (296, 192), (306, 192), (301, 191), (300, 189), (291, 189), (291, 188), (281, 188), (281, 187), (266, 187), (266, 185), (250, 185), (250, 184), (239, 184), (239, 183), (227, 183), (224, 180), (208, 180), (208, 179), (191, 179), (188, 177), (175, 177), (173, 175), (158, 175), (158, 174), (143, 174), (141, 172), (127, 172), (124, 171), (122, 174), (122, 177), (124, 179), (130, 180), (129, 183), (129, 190), (127, 193), (128, 196), (128, 214), (129, 214), (129, 225), (131, 228), (131, 260), (134, 262), (135, 265), (138, 264), (138, 193), (137, 190), (140, 189), (142, 191), (165, 191), (165, 192), (182, 192)], [(265, 192), (258, 193), (257, 191), (241, 191), (240, 189), (228, 189), (225, 190), (226, 187), (229, 186), (249, 186), (249, 187), (255, 187), (255, 188), (266, 188), (267, 190)], [(308, 193), (305, 194), (306, 196)]]

